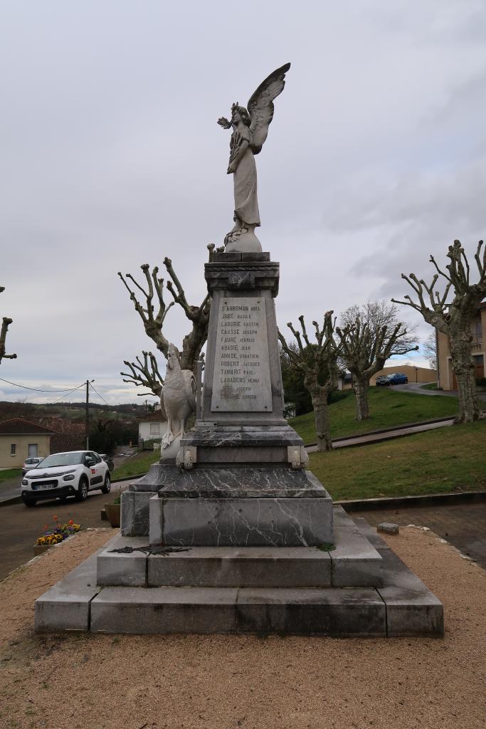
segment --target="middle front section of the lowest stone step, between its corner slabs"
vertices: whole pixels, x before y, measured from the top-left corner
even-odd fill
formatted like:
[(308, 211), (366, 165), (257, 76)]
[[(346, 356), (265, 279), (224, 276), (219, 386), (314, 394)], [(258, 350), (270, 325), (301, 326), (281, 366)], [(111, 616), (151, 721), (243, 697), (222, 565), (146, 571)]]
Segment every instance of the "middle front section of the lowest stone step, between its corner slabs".
[(257, 633), (386, 636), (376, 590), (103, 588), (93, 633)]

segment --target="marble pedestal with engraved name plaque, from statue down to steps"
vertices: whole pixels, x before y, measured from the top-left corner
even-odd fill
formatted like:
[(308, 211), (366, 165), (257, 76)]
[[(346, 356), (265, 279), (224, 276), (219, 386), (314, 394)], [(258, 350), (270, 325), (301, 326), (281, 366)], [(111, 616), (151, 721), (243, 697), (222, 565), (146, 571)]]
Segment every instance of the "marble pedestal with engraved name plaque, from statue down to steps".
[(212, 303), (195, 428), (179, 465), (155, 464), (123, 494), (122, 534), (192, 547), (332, 543), (332, 499), (283, 417), (278, 263), (218, 253), (205, 278)]

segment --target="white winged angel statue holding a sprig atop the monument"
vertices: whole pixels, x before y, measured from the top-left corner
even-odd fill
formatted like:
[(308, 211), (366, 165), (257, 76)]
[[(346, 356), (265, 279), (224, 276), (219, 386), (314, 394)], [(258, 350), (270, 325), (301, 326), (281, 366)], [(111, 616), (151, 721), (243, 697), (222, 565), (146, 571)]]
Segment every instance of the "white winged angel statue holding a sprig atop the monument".
[(273, 119), (273, 100), (282, 93), (289, 68), (290, 63), (286, 63), (273, 71), (251, 95), (248, 109), (238, 106), (237, 101), (231, 107), (231, 120), (225, 117), (218, 120), (224, 129), (233, 128), (227, 174), (233, 175), (235, 184), (235, 226), (224, 238), (228, 252), (262, 250), (254, 233), (260, 225), (254, 155), (258, 155), (267, 139), (268, 125)]

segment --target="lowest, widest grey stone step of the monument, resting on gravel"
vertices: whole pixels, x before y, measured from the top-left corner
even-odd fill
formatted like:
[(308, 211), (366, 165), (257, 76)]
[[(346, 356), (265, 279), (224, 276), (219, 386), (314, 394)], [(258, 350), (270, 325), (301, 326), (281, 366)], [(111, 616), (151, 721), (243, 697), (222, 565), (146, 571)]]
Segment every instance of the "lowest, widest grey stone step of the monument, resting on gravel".
[[(135, 634), (442, 636), (442, 603), (375, 530), (361, 519), (356, 524), (382, 558), (379, 588), (100, 587), (96, 585), (100, 552), (36, 600), (35, 628)], [(146, 555), (138, 559), (147, 565)]]

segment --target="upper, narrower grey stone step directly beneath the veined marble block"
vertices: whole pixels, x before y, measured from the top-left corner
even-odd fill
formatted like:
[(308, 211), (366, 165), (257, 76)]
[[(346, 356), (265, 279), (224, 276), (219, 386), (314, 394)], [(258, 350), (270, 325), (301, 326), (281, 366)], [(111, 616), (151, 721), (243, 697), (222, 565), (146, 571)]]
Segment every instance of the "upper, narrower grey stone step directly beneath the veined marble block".
[[(130, 554), (114, 550), (132, 548)], [(382, 558), (348, 515), (334, 509), (334, 545), (185, 547), (161, 554), (146, 537), (115, 537), (98, 555), (98, 585), (119, 587), (326, 588), (383, 584)], [(177, 548), (176, 548), (177, 549)]]

